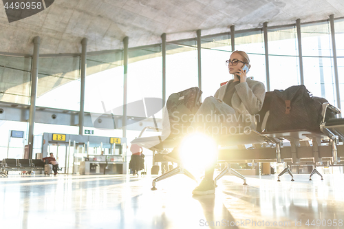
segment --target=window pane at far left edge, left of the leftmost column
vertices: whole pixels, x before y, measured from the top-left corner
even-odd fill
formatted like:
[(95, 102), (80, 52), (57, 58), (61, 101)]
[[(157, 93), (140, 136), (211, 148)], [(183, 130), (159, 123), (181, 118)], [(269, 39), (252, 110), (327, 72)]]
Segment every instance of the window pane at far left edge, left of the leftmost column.
[(31, 57), (0, 56), (0, 101), (30, 103)]

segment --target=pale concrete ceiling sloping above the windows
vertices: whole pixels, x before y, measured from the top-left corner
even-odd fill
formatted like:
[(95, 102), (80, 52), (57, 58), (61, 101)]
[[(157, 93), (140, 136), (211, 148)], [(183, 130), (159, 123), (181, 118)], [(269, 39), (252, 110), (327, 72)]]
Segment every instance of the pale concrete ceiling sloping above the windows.
[(79, 53), (189, 39), (235, 30), (344, 17), (343, 0), (55, 0), (32, 17), (8, 23), (0, 1), (0, 52), (32, 54), (41, 36), (41, 54)]

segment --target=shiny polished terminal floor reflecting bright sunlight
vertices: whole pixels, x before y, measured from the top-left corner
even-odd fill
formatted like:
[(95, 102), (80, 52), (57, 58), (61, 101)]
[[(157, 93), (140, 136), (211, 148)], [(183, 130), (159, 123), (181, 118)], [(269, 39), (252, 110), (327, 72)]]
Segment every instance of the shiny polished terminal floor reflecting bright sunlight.
[[(344, 175), (227, 175), (215, 195), (194, 182), (132, 175), (0, 177), (1, 228), (344, 228)], [(331, 225), (330, 225), (331, 224)], [(336, 225), (336, 226), (334, 226)]]

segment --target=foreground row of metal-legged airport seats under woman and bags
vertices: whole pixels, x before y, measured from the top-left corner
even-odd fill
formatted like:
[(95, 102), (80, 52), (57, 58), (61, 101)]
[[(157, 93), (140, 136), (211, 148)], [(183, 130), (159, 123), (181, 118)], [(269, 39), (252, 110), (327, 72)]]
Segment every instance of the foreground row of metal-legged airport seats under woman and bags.
[[(322, 116), (320, 124), (321, 131), (309, 131), (307, 129), (286, 130), (275, 132), (250, 131), (250, 133), (238, 133), (235, 135), (221, 135), (219, 142), (219, 153), (217, 162), (226, 164), (217, 177), (215, 182), (222, 176), (230, 173), (244, 180), (246, 177), (237, 173), (230, 164), (233, 163), (258, 163), (258, 162), (285, 162), (286, 168), (279, 173), (277, 181), (280, 181), (281, 175), (288, 173), (294, 181), (294, 176), (290, 170), (292, 165), (310, 165), (313, 166), (312, 175), (323, 176), (316, 171), (317, 166), (343, 166), (344, 160), (344, 119), (335, 118), (325, 121), (326, 111), (331, 111), (338, 115), (339, 109), (329, 103), (323, 103)], [(263, 116), (264, 117), (264, 116)], [(145, 127), (143, 131), (149, 128)], [(151, 128), (153, 129), (153, 128)], [(131, 144), (138, 144), (146, 149), (153, 151), (153, 164), (157, 166), (158, 162), (167, 162), (164, 160), (164, 152), (173, 149), (180, 144), (181, 138), (169, 138), (169, 136), (159, 135), (153, 137), (136, 138)], [(248, 148), (247, 145), (250, 145)], [(236, 148), (233, 149), (233, 146)], [(342, 157), (342, 158), (341, 158)], [(155, 170), (156, 171), (156, 170)], [(166, 179), (173, 175), (183, 173), (191, 179), (195, 179), (189, 171), (178, 164), (168, 173), (164, 173), (153, 179), (153, 188), (155, 190), (156, 182)]]

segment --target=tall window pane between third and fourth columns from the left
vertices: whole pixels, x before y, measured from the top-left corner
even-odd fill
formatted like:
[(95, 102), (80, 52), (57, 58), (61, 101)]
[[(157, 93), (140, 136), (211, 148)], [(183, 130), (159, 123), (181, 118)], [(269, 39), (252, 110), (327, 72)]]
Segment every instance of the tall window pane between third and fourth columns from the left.
[[(127, 103), (142, 100), (142, 98), (157, 98), (162, 101), (162, 56), (160, 45), (129, 51)], [(160, 100), (159, 100), (160, 99)], [(127, 107), (127, 116), (142, 116), (137, 109)], [(143, 112), (144, 113), (144, 112)], [(162, 118), (162, 111), (154, 114)], [(147, 117), (148, 118), (148, 117)]]

